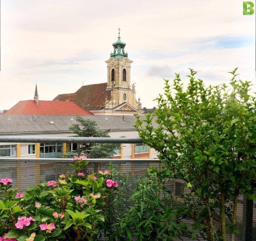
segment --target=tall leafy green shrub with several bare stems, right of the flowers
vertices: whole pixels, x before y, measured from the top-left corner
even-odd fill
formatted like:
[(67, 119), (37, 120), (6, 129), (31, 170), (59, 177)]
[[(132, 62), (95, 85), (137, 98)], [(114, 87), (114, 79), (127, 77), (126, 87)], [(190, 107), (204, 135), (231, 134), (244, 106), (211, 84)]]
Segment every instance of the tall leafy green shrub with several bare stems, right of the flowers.
[(165, 80), (157, 110), (136, 121), (143, 142), (159, 152), (172, 177), (185, 180), (204, 203), (208, 240), (217, 233), (227, 240), (227, 228), (235, 240), (238, 196), (255, 199), (256, 99), (236, 70), (229, 85), (205, 87), (190, 69), (186, 89), (176, 74), (172, 85)]

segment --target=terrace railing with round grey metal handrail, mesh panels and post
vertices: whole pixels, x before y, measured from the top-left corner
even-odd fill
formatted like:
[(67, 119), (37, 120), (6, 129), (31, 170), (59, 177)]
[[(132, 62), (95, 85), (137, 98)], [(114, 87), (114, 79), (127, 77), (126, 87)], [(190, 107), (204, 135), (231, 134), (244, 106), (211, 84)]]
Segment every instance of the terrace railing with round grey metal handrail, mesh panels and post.
[[(42, 138), (42, 137), (20, 137), (0, 136), (0, 143), (142, 143), (140, 138)], [(123, 193), (127, 196), (136, 187), (136, 183), (145, 176), (147, 168), (154, 166), (161, 169), (163, 164), (158, 159), (88, 159), (90, 164), (85, 167), (84, 173), (90, 175), (98, 170), (109, 169), (113, 166), (121, 179), (129, 180)], [(74, 169), (69, 166), (72, 159), (22, 159), (22, 158), (0, 158), (0, 179), (10, 177), (13, 185), (18, 191), (25, 191), (28, 187), (36, 186), (40, 182), (58, 179), (61, 174), (70, 174)], [(182, 202), (182, 194), (188, 192), (184, 181), (177, 179), (166, 179), (164, 185), (172, 190), (173, 196)], [(237, 224), (240, 230), (236, 240), (256, 240), (256, 203), (239, 197)]]

